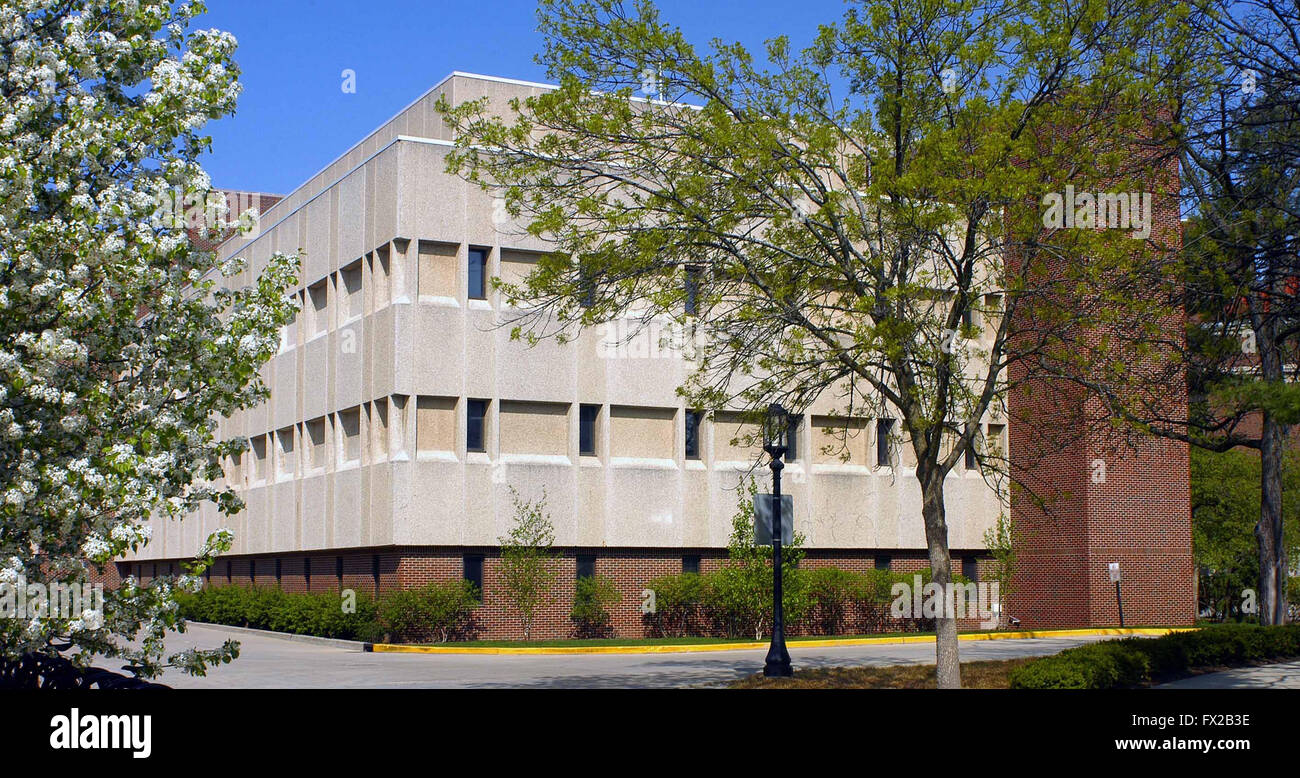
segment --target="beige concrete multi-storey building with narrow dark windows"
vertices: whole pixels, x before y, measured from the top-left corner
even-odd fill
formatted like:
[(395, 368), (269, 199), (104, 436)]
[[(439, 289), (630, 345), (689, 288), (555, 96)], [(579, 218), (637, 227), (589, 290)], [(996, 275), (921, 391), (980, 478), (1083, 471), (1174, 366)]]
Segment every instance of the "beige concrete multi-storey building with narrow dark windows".
[[(486, 95), (504, 109), (543, 88), (455, 73), (266, 208), (256, 235), (218, 248), (250, 260), (248, 281), (274, 251), (302, 250), (303, 264), (292, 290), (302, 312), (264, 368), (269, 402), (222, 422), (222, 435), (252, 449), (229, 472), (247, 510), (213, 582), (384, 589), (464, 575), (485, 587), (484, 636), (512, 635), (493, 598), (511, 489), (530, 500), (545, 490), (564, 554), (543, 636), (567, 635), (577, 575), (615, 579), (615, 628), (640, 634), (646, 580), (725, 558), (757, 451), (731, 444), (744, 433), (734, 415), (682, 405), (685, 363), (649, 333), (642, 347), (611, 347), (594, 330), (528, 347), (500, 327), (508, 311), (489, 278), (521, 278), (546, 246), (445, 173), (451, 138), (433, 105), (442, 94)], [(837, 425), (852, 428), (848, 462), (820, 450)], [(885, 429), (837, 419), (829, 403), (802, 416), (784, 487), (807, 565), (928, 566), (911, 451), (883, 440)], [(989, 419), (985, 432), (1004, 450), (1015, 441), (1008, 420)], [(766, 489), (766, 468), (754, 472)], [(1186, 454), (1180, 477), (1186, 492)], [(982, 474), (952, 474), (958, 570), (979, 574), (984, 532), (1005, 503)], [(122, 567), (144, 579), (172, 570), (221, 520), (205, 510), (156, 522), (153, 541)], [(1186, 502), (1149, 520), (1190, 531)], [(1174, 553), (1186, 553), (1190, 575), (1190, 536)], [(1190, 617), (1190, 588), (1187, 601)], [(1148, 617), (1186, 621), (1176, 608)]]

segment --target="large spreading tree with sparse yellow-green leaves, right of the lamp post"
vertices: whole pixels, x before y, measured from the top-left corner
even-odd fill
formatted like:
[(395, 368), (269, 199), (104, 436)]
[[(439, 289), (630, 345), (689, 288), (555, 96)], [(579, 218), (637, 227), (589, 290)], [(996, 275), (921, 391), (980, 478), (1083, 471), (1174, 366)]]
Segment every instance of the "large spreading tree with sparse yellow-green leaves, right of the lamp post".
[[(806, 49), (776, 38), (763, 57), (699, 49), (646, 0), (543, 0), (538, 16), (558, 88), (507, 116), (439, 105), (448, 169), (555, 248), (500, 285), (523, 308), (514, 334), (668, 320), (696, 333), (690, 407), (833, 398), (894, 419), (936, 583), (953, 576), (945, 476), (968, 449), (998, 472), (980, 431), (1013, 382), (1044, 350), (1088, 354), (1062, 333), (1167, 327), (1164, 301), (1115, 289), (1158, 267), (1135, 241), (1048, 241), (1036, 204), (1066, 183), (1149, 191), (1123, 169), (1156, 94), (1136, 61), (1176, 9), (850, 3)], [(958, 687), (956, 619), (937, 632), (939, 683)]]

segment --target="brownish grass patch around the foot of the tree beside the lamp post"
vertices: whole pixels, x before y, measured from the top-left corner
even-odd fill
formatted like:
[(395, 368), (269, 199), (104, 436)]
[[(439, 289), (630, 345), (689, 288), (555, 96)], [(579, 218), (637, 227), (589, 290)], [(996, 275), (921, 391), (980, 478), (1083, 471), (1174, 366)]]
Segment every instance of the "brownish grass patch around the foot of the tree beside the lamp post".
[[(1008, 688), (1011, 670), (1035, 657), (962, 662), (962, 688)], [(796, 670), (794, 678), (742, 678), (731, 688), (936, 688), (933, 665), (823, 667)]]

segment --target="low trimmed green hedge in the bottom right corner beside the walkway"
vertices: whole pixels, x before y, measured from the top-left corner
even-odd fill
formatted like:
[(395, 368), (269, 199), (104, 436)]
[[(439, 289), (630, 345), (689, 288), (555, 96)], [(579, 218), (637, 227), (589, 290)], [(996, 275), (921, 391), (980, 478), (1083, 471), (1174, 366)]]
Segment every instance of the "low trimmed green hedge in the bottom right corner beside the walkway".
[(1011, 688), (1119, 688), (1196, 670), (1300, 657), (1300, 624), (1216, 624), (1162, 637), (1091, 643), (1011, 673)]

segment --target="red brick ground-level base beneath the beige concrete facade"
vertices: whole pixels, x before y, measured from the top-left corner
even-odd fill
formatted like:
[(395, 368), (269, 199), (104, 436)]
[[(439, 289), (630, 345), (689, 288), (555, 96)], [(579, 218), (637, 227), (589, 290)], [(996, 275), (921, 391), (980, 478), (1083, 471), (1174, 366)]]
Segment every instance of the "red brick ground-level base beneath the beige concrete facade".
[[(647, 637), (650, 624), (641, 613), (646, 584), (664, 575), (676, 575), (698, 565), (699, 572), (716, 570), (727, 561), (727, 549), (610, 549), (566, 548), (556, 549), (559, 572), (551, 601), (538, 614), (532, 628), (532, 639), (552, 640), (580, 636), (577, 624), (569, 618), (577, 582), (580, 557), (594, 557), (595, 575), (608, 578), (618, 587), (620, 601), (610, 608), (610, 636)], [(988, 575), (991, 561), (980, 557), (980, 550), (954, 550), (953, 570), (976, 571)], [(260, 554), (222, 557), (207, 574), (207, 585), (261, 585), (280, 587), (286, 592), (338, 592), (354, 589), (369, 595), (382, 595), (398, 588), (416, 588), (428, 583), (456, 580), (464, 575), (467, 554), (481, 556), (484, 604), (474, 613), (473, 637), (484, 640), (523, 639), (519, 617), (502, 596), (502, 567), (499, 549), (482, 548), (376, 548), (339, 552), (295, 554)], [(930, 566), (924, 550), (818, 550), (806, 549), (803, 569), (840, 567), (864, 572), (878, 566), (888, 566), (894, 572), (913, 572)], [(148, 562), (121, 562), (116, 569), (103, 571), (99, 583), (117, 585), (122, 578), (134, 575), (140, 582), (162, 575), (182, 572), (183, 559)], [(971, 567), (974, 565), (974, 570)], [(920, 619), (884, 619), (878, 631), (918, 631), (926, 627)], [(979, 628), (974, 618), (959, 619), (963, 630)], [(788, 634), (801, 634), (792, 624)]]

